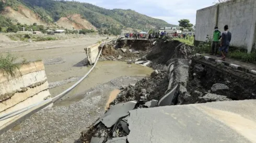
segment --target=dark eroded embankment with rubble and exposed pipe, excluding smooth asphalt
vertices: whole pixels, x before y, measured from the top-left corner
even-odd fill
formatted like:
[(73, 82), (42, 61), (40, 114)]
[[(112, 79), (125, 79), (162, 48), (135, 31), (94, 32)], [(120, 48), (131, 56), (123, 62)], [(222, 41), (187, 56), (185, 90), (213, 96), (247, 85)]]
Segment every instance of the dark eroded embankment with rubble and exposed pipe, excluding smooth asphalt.
[[(125, 47), (126, 50), (133, 48)], [(109, 50), (108, 48), (112, 46), (105, 47), (103, 50)], [(118, 53), (120, 48), (123, 47), (112, 48), (111, 51)], [(127, 136), (131, 132), (128, 124), (130, 110), (256, 99), (254, 84), (256, 77), (203, 61), (200, 58), (191, 60), (192, 46), (166, 38), (152, 44), (147, 51), (143, 52), (145, 55), (134, 54), (134, 56), (139, 60), (152, 61), (152, 64), (147, 66), (156, 70), (135, 85), (121, 88), (120, 94), (111, 103), (111, 108), (91, 126), (88, 132), (82, 132), (84, 142), (115, 142), (117, 140), (129, 142)], [(115, 60), (118, 55), (115, 54), (113, 59), (109, 60)], [(131, 57), (127, 55), (124, 59), (129, 58)]]

